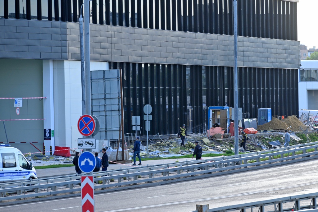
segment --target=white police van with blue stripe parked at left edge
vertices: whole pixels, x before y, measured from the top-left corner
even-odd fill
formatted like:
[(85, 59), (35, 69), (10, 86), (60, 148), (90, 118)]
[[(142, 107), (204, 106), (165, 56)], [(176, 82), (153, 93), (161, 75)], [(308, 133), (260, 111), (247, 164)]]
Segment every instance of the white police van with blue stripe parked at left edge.
[(10, 145), (0, 145), (0, 183), (38, 179), (35, 168), (22, 152)]

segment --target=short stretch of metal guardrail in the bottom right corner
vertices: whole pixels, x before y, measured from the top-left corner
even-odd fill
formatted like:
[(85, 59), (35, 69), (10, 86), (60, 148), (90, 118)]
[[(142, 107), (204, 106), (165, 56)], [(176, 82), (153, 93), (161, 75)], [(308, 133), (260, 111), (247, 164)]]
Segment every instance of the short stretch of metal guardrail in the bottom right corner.
[[(253, 211), (254, 208), (259, 212), (283, 212), (283, 211), (300, 211), (303, 209), (317, 209), (317, 196), (318, 193), (301, 194), (296, 196), (287, 196), (277, 199), (249, 202), (239, 205), (230, 205), (219, 208), (207, 208), (202, 212), (228, 212), (228, 211), (240, 211), (245, 212), (247, 209)], [(285, 204), (287, 203), (287, 204)], [(291, 203), (291, 204), (288, 204)], [(303, 203), (303, 204), (301, 204)], [(308, 211), (308, 210), (306, 210)], [(309, 210), (314, 212), (315, 210)], [(195, 210), (193, 212), (198, 212)]]

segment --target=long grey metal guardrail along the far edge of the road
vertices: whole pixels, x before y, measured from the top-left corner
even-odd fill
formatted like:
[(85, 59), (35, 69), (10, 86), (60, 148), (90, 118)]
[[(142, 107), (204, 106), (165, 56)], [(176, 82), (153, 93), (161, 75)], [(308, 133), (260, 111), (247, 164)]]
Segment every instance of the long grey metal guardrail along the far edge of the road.
[[(310, 144), (308, 143), (303, 144), (303, 147), (299, 148), (290, 146), (282, 148), (285, 150), (280, 152), (265, 154), (255, 154), (255, 152), (251, 152), (248, 154), (213, 158), (212, 161), (211, 159), (200, 161), (194, 160), (161, 166), (127, 168), (113, 172), (95, 173), (93, 175), (95, 193), (122, 190), (132, 187), (161, 185), (170, 182), (218, 176), (227, 173), (236, 173), (318, 158), (318, 142), (312, 143), (315, 143), (315, 145), (311, 144), (311, 146), (308, 146)], [(144, 183), (150, 184), (145, 185)], [(74, 196), (80, 195), (80, 193), (74, 194), (74, 192), (80, 191), (81, 188), (79, 184), (80, 176), (2, 184), (2, 188), (0, 188), (0, 201), (21, 200), (21, 198), (39, 197), (44, 195), (56, 196), (57, 194), (62, 193), (73, 194)], [(34, 190), (34, 193), (26, 194), (27, 190)], [(8, 195), (10, 192), (17, 192), (17, 194)], [(60, 198), (61, 195), (58, 197)], [(28, 201), (31, 200), (29, 199)], [(4, 205), (5, 203), (10, 204), (8, 202), (3, 202), (0, 203), (0, 205)]]

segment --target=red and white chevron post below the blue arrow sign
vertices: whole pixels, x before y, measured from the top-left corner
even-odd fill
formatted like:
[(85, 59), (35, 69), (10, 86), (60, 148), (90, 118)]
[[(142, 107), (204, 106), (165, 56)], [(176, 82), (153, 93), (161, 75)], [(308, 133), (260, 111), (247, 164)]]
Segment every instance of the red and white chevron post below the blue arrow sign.
[(81, 176), (82, 212), (94, 212), (93, 176)]

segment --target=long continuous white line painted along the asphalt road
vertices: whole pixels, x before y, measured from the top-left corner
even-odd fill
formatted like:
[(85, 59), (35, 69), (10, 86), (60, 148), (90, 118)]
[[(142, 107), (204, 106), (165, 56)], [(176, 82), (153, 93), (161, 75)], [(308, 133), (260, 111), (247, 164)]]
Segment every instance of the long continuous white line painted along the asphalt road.
[(276, 190), (294, 188), (294, 187), (299, 187), (299, 186), (307, 186), (307, 185), (313, 185), (313, 184), (317, 184), (317, 183), (318, 182), (305, 183), (305, 184), (300, 184), (300, 185), (295, 185), (295, 186), (273, 188), (273, 189), (268, 189), (268, 190), (263, 190), (263, 191), (254, 191), (254, 192), (248, 192), (248, 193), (243, 193), (243, 194), (233, 194), (233, 195), (229, 195), (229, 196), (211, 197), (211, 198), (198, 199), (198, 200), (188, 200), (188, 201), (181, 201), (181, 202), (170, 202), (170, 203), (164, 203), (164, 204), (148, 205), (148, 206), (141, 206), (141, 207), (135, 207), (135, 208), (125, 208), (125, 209), (119, 209), (119, 210), (107, 210), (107, 211), (103, 211), (103, 212), (118, 212), (118, 211), (136, 210), (136, 209), (142, 209), (142, 208), (154, 208), (154, 207), (160, 207), (160, 206), (166, 206), (166, 205), (176, 205), (176, 204), (198, 202), (198, 201), (215, 200), (215, 199), (222, 199), (222, 198), (229, 198), (229, 197), (257, 194), (257, 193), (261, 193), (261, 192), (276, 191)]

